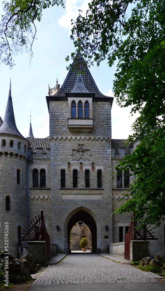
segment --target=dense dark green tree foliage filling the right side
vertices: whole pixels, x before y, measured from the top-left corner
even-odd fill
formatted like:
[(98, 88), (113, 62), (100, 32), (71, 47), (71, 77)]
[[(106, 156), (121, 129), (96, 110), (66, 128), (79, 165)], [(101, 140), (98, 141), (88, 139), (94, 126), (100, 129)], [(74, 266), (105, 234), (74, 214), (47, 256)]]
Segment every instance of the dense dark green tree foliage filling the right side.
[(116, 167), (130, 168), (136, 175), (126, 195), (132, 199), (115, 212), (134, 211), (134, 219), (144, 217), (140, 226), (157, 226), (165, 219), (164, 13), (162, 0), (93, 0), (86, 16), (80, 11), (71, 35), (88, 64), (100, 65), (105, 58), (109, 66), (118, 61), (116, 100), (121, 107), (131, 105), (131, 114), (140, 113), (128, 139), (140, 140), (140, 144)]

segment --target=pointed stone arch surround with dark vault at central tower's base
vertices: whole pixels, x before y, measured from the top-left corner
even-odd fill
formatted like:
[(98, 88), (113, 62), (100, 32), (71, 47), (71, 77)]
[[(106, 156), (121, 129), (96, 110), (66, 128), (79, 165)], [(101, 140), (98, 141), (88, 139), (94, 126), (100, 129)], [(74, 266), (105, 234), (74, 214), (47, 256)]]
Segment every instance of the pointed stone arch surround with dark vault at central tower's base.
[(70, 231), (77, 221), (83, 221), (91, 231), (92, 236), (92, 253), (96, 252), (97, 249), (97, 217), (95, 214), (86, 207), (78, 207), (74, 209), (65, 220), (65, 229), (67, 229), (67, 245), (68, 249), (70, 249)]

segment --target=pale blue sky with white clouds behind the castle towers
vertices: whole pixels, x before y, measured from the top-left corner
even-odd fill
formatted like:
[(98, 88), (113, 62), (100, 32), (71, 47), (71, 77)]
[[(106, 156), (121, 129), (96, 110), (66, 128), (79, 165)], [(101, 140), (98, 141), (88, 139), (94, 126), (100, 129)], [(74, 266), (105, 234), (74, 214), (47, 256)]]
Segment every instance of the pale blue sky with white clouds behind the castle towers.
[[(68, 71), (65, 57), (74, 52), (70, 39), (71, 19), (78, 16), (78, 10), (85, 13), (89, 0), (67, 0), (65, 10), (60, 6), (47, 8), (42, 13), (41, 22), (36, 22), (37, 39), (33, 43), (33, 58), (25, 52), (14, 57), (15, 66), (10, 70), (0, 65), (0, 116), (3, 120), (11, 78), (13, 109), (18, 130), (26, 137), (31, 124), (35, 138), (49, 136), (49, 112), (45, 96), (50, 88), (63, 84)], [(2, 9), (0, 9), (2, 14)], [(100, 67), (89, 68), (97, 87), (107, 96), (113, 96), (113, 80), (116, 63), (109, 67), (103, 61)], [(64, 76), (63, 76), (64, 71)], [(130, 116), (130, 108), (120, 108), (115, 101), (111, 110), (112, 139), (127, 139), (135, 116)]]

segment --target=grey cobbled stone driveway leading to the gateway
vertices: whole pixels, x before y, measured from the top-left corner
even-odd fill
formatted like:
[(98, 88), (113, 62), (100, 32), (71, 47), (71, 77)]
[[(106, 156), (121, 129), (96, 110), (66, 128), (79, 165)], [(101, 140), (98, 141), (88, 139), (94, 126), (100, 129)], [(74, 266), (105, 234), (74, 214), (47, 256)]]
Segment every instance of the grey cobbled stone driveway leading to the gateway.
[(77, 253), (67, 255), (57, 265), (49, 265), (33, 284), (157, 282), (158, 277), (100, 255)]

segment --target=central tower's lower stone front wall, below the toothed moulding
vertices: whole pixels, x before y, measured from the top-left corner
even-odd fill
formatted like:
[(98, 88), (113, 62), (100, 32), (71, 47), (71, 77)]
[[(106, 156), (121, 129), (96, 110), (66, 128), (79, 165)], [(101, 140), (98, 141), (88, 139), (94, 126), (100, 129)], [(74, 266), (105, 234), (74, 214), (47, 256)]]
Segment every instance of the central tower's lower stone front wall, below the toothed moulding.
[[(72, 150), (77, 145), (90, 150), (90, 161), (73, 161)], [(62, 153), (62, 155), (61, 155)], [(56, 162), (54, 162), (56, 161)], [(70, 163), (68, 165), (68, 162)], [(82, 165), (80, 164), (82, 162)], [(92, 162), (94, 167), (92, 168)], [(68, 246), (67, 223), (74, 211), (86, 209), (91, 213), (97, 225), (97, 247), (107, 251), (107, 244), (112, 242), (112, 192), (111, 192), (111, 153), (110, 142), (105, 138), (91, 136), (61, 137), (51, 140), (52, 168), (52, 219), (55, 225), (64, 226), (60, 231), (52, 228), (52, 238), (61, 251)], [(102, 188), (97, 188), (97, 169), (102, 169)], [(61, 188), (61, 169), (65, 169), (66, 187)], [(73, 188), (73, 169), (78, 171), (78, 187)], [(90, 170), (90, 188), (85, 188), (85, 169)], [(78, 195), (78, 196), (77, 196)], [(108, 225), (108, 231), (105, 225)], [(105, 238), (104, 238), (105, 236)]]

